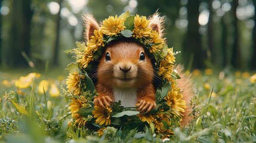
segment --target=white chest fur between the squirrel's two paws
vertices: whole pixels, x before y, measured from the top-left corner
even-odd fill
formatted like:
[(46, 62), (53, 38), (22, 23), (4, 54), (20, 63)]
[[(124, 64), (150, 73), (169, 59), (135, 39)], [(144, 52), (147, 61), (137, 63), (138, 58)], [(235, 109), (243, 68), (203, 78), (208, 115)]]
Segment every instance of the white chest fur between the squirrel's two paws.
[(115, 102), (121, 101), (124, 107), (135, 107), (137, 93), (135, 89), (114, 89)]

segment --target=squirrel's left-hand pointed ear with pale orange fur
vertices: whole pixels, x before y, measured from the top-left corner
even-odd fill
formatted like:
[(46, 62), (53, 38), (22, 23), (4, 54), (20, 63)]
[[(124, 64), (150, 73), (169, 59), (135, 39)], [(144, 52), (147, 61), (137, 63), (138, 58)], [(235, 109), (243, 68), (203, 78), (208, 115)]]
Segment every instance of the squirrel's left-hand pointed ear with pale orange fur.
[(91, 14), (83, 15), (82, 20), (84, 21), (85, 27), (84, 39), (85, 41), (90, 41), (91, 36), (94, 35), (94, 30), (98, 30), (100, 27), (98, 26), (94, 16)]

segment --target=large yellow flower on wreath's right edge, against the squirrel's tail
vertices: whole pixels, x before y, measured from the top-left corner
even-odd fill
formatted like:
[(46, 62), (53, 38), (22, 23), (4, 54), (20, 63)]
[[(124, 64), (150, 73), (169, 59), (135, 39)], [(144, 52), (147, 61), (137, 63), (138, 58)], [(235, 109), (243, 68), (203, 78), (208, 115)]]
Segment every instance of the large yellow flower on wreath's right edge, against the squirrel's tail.
[(173, 86), (171, 91), (169, 91), (165, 97), (166, 104), (173, 110), (184, 112), (186, 108), (186, 101), (182, 100), (183, 95), (181, 94), (180, 88), (178, 88), (176, 83), (172, 82), (172, 84)]

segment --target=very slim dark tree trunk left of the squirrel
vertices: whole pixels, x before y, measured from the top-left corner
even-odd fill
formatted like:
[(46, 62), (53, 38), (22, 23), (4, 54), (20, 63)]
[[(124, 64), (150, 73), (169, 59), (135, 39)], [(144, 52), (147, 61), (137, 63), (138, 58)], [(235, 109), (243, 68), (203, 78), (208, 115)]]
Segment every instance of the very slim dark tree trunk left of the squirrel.
[[(63, 0), (59, 0), (58, 4), (60, 5), (61, 10), (61, 3)], [(55, 46), (54, 46), (54, 52), (53, 52), (53, 66), (58, 66), (58, 51), (60, 49), (60, 10), (57, 13), (57, 21), (56, 21), (56, 36), (55, 36)]]

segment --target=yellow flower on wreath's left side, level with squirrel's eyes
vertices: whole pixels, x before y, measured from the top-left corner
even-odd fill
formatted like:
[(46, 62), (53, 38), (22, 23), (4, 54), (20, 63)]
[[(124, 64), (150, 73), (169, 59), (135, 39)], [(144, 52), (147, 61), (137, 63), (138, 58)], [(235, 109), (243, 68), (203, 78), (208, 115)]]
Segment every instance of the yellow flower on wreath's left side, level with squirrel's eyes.
[(81, 54), (82, 54), (81, 56), (82, 58), (78, 60), (78, 63), (81, 67), (87, 68), (90, 61), (94, 60), (93, 53), (88, 47), (86, 47), (84, 52), (82, 52)]

